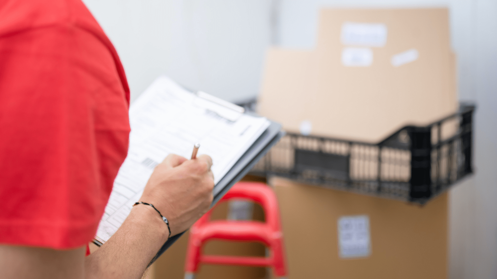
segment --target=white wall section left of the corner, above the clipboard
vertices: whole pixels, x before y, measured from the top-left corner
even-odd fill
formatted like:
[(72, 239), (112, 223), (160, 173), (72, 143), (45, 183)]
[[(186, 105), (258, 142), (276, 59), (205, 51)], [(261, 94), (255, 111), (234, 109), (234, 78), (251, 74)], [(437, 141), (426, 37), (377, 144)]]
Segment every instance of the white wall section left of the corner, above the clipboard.
[(160, 74), (240, 101), (258, 92), (271, 0), (83, 0), (119, 53), (134, 100)]

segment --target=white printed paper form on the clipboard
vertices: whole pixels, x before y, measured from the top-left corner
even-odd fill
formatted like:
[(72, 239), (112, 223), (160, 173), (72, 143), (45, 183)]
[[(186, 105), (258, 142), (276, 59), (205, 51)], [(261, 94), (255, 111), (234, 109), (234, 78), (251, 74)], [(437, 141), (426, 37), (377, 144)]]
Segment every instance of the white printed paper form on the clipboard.
[[(169, 153), (189, 159), (195, 142), (198, 154), (211, 156), (214, 183), (235, 165), (269, 127), (254, 117), (188, 92), (160, 77), (131, 105), (128, 156), (122, 164), (95, 239), (104, 243), (137, 202), (155, 166)], [(167, 217), (167, 216), (166, 216)]]

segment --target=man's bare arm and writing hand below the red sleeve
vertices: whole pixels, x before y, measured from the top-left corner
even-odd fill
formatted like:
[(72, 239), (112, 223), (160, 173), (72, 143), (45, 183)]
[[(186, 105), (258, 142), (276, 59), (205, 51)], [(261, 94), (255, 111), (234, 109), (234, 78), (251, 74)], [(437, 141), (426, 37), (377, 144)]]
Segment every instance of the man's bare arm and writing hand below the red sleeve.
[[(169, 155), (154, 170), (140, 201), (168, 218), (171, 235), (186, 230), (208, 210), (214, 187), (211, 165), (205, 155), (195, 160)], [(140, 279), (168, 234), (157, 211), (138, 205), (88, 257), (85, 247), (60, 251), (0, 246), (0, 274), (5, 279)]]

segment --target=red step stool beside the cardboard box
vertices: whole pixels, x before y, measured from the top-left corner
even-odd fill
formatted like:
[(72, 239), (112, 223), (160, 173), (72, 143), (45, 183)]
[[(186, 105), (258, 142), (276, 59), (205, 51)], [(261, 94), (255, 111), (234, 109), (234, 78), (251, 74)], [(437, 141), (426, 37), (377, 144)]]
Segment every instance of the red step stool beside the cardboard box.
[[(213, 209), (209, 210), (190, 228), (185, 279), (193, 279), (201, 263), (273, 267), (274, 273), (278, 277), (285, 277), (287, 269), (283, 234), (281, 232), (278, 201), (272, 189), (263, 183), (239, 182), (231, 188), (221, 201), (230, 199), (244, 199), (258, 203), (264, 209), (266, 222), (245, 220), (210, 221), (209, 218)], [(202, 255), (202, 245), (213, 239), (262, 242), (269, 248), (270, 254), (269, 257)]]

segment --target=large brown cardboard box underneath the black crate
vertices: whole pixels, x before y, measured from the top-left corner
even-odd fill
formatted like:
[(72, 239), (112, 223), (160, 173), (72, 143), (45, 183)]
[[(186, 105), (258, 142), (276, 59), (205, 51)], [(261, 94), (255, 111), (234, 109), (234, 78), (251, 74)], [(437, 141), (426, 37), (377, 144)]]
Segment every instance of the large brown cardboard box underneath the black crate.
[[(447, 195), (424, 207), (271, 178), (289, 279), (447, 278)], [(340, 259), (337, 220), (367, 215), (371, 254)]]

